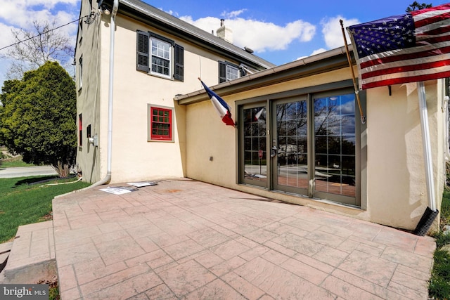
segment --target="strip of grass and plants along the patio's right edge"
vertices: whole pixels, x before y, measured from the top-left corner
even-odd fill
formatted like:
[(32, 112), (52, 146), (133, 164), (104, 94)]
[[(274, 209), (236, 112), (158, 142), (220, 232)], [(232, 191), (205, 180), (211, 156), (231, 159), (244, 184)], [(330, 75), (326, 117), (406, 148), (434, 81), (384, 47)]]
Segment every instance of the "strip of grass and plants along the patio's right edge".
[[(441, 225), (450, 225), (450, 189), (444, 188), (441, 205)], [(440, 231), (433, 235), (436, 239), (436, 251), (431, 271), (428, 296), (430, 299), (450, 299), (450, 253), (442, 249), (450, 244), (450, 234)]]

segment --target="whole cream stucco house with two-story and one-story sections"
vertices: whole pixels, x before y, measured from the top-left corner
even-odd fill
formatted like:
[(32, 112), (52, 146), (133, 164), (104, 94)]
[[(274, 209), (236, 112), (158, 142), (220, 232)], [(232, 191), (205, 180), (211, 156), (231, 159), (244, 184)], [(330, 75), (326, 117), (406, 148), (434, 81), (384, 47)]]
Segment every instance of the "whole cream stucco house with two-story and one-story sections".
[[(101, 14), (82, 1), (82, 15), (89, 15), (76, 53), (84, 181), (184, 176), (416, 228), (428, 206), (416, 84), (360, 91), (361, 122), (345, 47), (274, 66), (233, 46), (227, 30), (217, 37), (141, 1), (116, 2), (117, 15), (111, 1), (103, 1)], [(165, 63), (147, 46), (141, 51), (141, 41), (174, 56)], [(231, 77), (224, 78), (220, 70), (227, 69)], [(198, 77), (232, 108), (235, 127), (221, 122)], [(448, 86), (445, 79), (425, 81), (438, 207), (449, 149)]]

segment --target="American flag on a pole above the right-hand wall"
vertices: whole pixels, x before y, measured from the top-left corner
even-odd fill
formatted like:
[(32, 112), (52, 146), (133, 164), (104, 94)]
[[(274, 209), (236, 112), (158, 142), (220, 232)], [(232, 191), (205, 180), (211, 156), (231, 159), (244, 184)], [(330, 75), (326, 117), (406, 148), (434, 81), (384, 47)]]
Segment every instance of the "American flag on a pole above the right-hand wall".
[(450, 77), (450, 4), (347, 30), (360, 89)]

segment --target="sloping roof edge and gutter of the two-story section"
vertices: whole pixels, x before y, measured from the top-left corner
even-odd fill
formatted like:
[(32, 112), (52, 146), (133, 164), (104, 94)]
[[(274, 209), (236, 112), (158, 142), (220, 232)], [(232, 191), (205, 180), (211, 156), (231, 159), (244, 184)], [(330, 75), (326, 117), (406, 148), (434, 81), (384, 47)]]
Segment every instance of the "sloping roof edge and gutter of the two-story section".
[[(106, 4), (106, 2), (110, 4), (112, 1), (103, 1), (103, 4)], [(259, 56), (248, 53), (243, 48), (224, 41), (214, 34), (205, 32), (205, 30), (195, 27), (184, 20), (180, 20), (169, 13), (165, 13), (165, 11), (161, 11), (143, 1), (119, 0), (118, 13), (169, 32), (181, 39), (191, 41), (193, 44), (197, 44), (203, 48), (209, 48), (211, 51), (220, 53), (227, 58), (248, 64), (249, 67), (254, 67), (256, 70), (264, 70), (276, 66)], [(251, 48), (251, 45), (248, 46)]]

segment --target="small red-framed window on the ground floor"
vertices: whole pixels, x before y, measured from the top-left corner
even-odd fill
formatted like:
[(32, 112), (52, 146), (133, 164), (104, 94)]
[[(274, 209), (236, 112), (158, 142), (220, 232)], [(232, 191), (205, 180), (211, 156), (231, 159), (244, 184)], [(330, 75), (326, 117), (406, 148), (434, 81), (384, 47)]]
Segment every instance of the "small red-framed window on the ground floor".
[(172, 107), (148, 105), (148, 141), (173, 141)]

